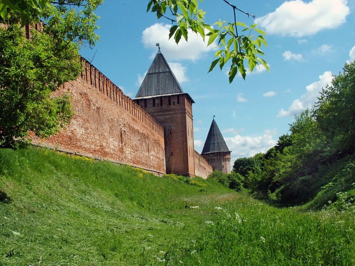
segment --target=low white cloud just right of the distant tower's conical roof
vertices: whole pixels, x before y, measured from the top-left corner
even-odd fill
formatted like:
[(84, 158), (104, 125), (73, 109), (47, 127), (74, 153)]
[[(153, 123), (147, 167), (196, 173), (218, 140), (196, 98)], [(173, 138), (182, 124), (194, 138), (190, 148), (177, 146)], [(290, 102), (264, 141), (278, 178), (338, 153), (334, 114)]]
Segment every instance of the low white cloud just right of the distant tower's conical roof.
[(265, 130), (263, 135), (257, 137), (236, 135), (232, 138), (224, 138), (228, 148), (232, 151), (232, 163), (240, 157), (265, 153), (277, 143), (274, 134), (275, 130)]

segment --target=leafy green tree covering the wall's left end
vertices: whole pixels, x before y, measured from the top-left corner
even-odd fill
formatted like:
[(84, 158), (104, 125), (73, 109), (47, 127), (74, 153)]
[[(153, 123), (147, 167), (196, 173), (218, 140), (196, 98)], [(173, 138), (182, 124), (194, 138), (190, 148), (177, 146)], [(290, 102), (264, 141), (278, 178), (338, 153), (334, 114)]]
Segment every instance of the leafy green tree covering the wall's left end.
[[(2, 10), (0, 27), (0, 148), (16, 149), (29, 141), (30, 132), (47, 137), (69, 122), (70, 95), (54, 93), (80, 72), (80, 46), (92, 47), (98, 36), (94, 11), (102, 0), (4, 1), (11, 4), (41, 3), (26, 9), (26, 23), (43, 18), (47, 26), (32, 29), (27, 39), (16, 9)], [(73, 9), (72, 6), (81, 7)]]

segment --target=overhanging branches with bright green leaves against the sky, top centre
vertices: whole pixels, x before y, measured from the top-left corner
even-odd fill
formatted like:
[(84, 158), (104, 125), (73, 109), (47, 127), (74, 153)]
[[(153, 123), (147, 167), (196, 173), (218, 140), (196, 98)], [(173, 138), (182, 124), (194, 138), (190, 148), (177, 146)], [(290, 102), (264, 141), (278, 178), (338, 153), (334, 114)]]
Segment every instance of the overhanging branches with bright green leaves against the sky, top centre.
[[(202, 0), (200, 0), (202, 2)], [(233, 11), (238, 10), (235, 6)], [(261, 29), (256, 28), (256, 24), (247, 26), (245, 23), (234, 21), (233, 23), (219, 20), (212, 26), (204, 22), (206, 12), (198, 7), (198, 0), (150, 0), (147, 12), (155, 12), (157, 18), (167, 18), (174, 25), (170, 28), (169, 38), (174, 37), (176, 43), (181, 38), (186, 41), (191, 32), (207, 39), (207, 46), (214, 45), (217, 41), (217, 51), (215, 59), (212, 61), (209, 72), (218, 64), (220, 70), (228, 63), (229, 83), (231, 83), (238, 72), (245, 79), (246, 67), (250, 72), (258, 66), (269, 70), (268, 65), (260, 56), (264, 56), (261, 46), (267, 46), (266, 34)], [(243, 12), (246, 13), (246, 12)], [(249, 13), (246, 13), (248, 16)], [(168, 17), (170, 16), (170, 17)], [(214, 26), (214, 27), (213, 27)], [(238, 33), (238, 27), (241, 27)], [(240, 34), (240, 33), (243, 34)]]

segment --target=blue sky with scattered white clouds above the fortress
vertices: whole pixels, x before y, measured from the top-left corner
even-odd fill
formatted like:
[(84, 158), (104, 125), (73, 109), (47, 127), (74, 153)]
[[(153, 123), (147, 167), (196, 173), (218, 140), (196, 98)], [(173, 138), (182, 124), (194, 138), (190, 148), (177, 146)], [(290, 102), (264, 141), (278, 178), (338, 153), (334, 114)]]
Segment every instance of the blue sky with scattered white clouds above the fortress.
[[(263, 69), (236, 77), (229, 84), (225, 70), (207, 73), (213, 49), (196, 35), (176, 45), (168, 40), (170, 23), (146, 13), (144, 1), (105, 0), (97, 10), (100, 42), (81, 54), (99, 68), (125, 94), (134, 98), (140, 81), (157, 52), (169, 62), (193, 105), (195, 149), (202, 150), (215, 115), (232, 153), (252, 156), (273, 146), (288, 132), (294, 115), (310, 107), (332, 73), (355, 59), (355, 1), (240, 1), (230, 0), (241, 10), (256, 15), (268, 34), (263, 51), (270, 73)], [(205, 0), (206, 23), (233, 21), (233, 10), (222, 0)], [(253, 24), (253, 18), (237, 13), (237, 21)]]

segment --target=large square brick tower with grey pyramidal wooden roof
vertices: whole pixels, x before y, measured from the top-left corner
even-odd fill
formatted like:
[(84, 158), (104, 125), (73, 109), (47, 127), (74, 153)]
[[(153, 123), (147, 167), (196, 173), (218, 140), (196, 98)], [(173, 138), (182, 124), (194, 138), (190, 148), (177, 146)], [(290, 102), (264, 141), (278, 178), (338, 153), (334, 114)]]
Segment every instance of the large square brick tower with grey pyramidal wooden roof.
[(195, 102), (181, 89), (160, 49), (133, 101), (164, 127), (166, 173), (195, 176)]

